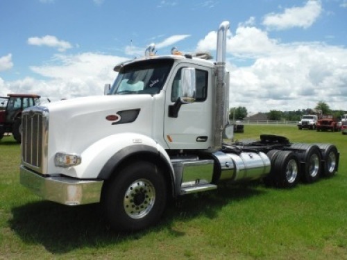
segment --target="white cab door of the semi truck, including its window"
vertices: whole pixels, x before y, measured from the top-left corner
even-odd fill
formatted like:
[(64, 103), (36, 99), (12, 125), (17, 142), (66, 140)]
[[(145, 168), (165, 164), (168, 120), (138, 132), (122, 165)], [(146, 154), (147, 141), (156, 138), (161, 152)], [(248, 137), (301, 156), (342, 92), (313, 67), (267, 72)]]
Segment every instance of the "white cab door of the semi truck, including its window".
[(169, 107), (180, 97), (180, 73), (192, 64), (179, 64), (169, 78), (164, 112), (164, 140), (170, 149), (207, 149), (212, 143), (212, 69), (195, 66), (196, 98), (180, 106), (177, 117)]

